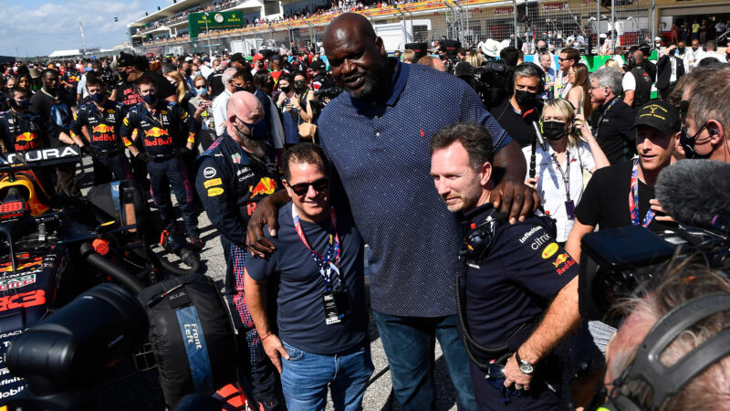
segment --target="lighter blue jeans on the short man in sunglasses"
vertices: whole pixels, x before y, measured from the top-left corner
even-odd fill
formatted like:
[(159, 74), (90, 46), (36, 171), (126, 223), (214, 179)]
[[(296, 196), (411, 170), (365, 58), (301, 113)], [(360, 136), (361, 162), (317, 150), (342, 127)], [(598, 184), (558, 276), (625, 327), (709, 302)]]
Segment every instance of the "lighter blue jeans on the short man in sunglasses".
[(282, 343), (289, 353), (289, 359), (281, 361), (281, 387), (288, 411), (324, 410), (328, 385), (336, 410), (362, 409), (362, 395), (375, 370), (370, 344), (345, 353), (319, 355)]

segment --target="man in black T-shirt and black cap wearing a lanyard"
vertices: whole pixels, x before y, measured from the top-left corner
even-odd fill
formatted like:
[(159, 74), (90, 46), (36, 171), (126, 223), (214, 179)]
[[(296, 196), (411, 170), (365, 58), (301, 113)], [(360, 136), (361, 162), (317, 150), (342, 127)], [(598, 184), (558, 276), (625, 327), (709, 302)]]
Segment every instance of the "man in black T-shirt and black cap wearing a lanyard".
[(580, 239), (601, 230), (648, 227), (661, 231), (673, 223), (655, 218), (650, 200), (659, 172), (672, 161), (672, 151), (680, 130), (679, 113), (666, 101), (652, 101), (637, 113), (636, 149), (639, 158), (597, 170), (576, 207), (576, 222), (568, 236), (566, 250), (580, 259)]

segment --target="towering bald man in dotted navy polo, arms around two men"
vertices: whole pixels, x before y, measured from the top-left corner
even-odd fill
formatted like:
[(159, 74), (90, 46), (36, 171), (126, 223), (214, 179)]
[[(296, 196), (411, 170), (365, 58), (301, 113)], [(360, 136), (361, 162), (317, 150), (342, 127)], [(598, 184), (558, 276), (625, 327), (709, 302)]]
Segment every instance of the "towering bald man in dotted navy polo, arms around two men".
[[(459, 221), (433, 189), (428, 142), (434, 132), (457, 121), (484, 124), (494, 139), (495, 164), (508, 166), (493, 200), (499, 204), (504, 197), (503, 209), (511, 206), (515, 221), (537, 200), (522, 184), (524, 156), (464, 81), (387, 58), (382, 39), (365, 17), (336, 18), (323, 46), (334, 78), (348, 92), (322, 111), (320, 143), (372, 250), (370, 301), (396, 398), (403, 410), (431, 408), (435, 337), (458, 390), (459, 408), (474, 409), (455, 316)], [(273, 250), (261, 226), (267, 223), (275, 232), (275, 206), (287, 201), (286, 192), (278, 193), (256, 209), (247, 235), (251, 252)]]

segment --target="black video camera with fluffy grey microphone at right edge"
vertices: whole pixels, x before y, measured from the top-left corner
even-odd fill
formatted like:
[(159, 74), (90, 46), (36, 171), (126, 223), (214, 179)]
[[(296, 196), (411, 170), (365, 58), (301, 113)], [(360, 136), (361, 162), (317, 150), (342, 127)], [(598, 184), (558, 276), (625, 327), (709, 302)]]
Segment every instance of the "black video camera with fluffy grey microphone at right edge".
[[(713, 176), (708, 178), (707, 176)], [(653, 290), (670, 262), (692, 260), (730, 273), (730, 164), (684, 160), (659, 174), (656, 198), (678, 227), (652, 233), (620, 227), (581, 241), (579, 310), (589, 320), (616, 325), (611, 307)]]

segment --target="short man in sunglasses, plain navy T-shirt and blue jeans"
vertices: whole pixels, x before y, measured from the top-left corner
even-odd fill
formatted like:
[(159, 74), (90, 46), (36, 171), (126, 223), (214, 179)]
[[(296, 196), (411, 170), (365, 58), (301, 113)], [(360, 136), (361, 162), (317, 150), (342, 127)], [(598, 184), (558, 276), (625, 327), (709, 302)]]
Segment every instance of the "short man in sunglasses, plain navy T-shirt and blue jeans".
[[(330, 189), (328, 162), (318, 146), (289, 148), (283, 164), (291, 202), (279, 210), (277, 236), (268, 237), (276, 252), (246, 258), (248, 308), (281, 373), (289, 409), (324, 410), (328, 387), (336, 409), (361, 409), (374, 370), (363, 241), (343, 193)], [(267, 283), (278, 290), (276, 328), (262, 298)]]

